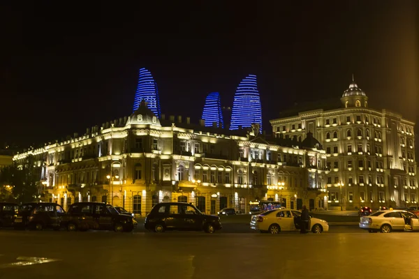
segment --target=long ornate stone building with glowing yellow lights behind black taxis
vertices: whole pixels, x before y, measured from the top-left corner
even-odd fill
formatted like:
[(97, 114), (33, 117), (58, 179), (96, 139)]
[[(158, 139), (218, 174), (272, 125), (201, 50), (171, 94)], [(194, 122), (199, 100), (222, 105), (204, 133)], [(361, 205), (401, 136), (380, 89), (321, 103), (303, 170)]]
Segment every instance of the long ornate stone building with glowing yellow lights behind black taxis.
[[(124, 119), (14, 156), (34, 156), (38, 199), (68, 208), (108, 202), (145, 216), (159, 202), (192, 202), (205, 213), (248, 212), (256, 201), (288, 208), (323, 206), (326, 154), (312, 135), (303, 142), (267, 139), (252, 130), (158, 119), (142, 102)], [(322, 193), (323, 191), (323, 193)]]

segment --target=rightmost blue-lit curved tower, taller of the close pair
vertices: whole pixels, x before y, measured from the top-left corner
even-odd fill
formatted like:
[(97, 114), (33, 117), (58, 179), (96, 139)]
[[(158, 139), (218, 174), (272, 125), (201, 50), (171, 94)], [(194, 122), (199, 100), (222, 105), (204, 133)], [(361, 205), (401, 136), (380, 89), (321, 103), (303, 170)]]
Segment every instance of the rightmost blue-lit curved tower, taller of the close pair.
[(231, 112), (230, 130), (238, 130), (239, 126), (250, 128), (252, 123), (258, 123), (260, 131), (262, 131), (262, 105), (260, 105), (256, 75), (244, 77), (237, 86)]

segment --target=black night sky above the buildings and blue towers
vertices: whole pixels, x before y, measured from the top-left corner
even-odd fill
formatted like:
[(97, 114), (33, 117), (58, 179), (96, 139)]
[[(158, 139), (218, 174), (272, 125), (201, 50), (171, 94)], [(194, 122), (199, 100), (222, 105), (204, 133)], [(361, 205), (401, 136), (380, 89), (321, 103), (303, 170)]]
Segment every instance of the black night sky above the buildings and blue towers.
[(352, 74), (370, 107), (419, 123), (418, 1), (224, 2), (1, 4), (0, 142), (60, 140), (128, 116), (142, 67), (162, 113), (194, 122), (207, 93), (233, 105), (253, 73), (268, 132), (296, 102), (340, 98)]

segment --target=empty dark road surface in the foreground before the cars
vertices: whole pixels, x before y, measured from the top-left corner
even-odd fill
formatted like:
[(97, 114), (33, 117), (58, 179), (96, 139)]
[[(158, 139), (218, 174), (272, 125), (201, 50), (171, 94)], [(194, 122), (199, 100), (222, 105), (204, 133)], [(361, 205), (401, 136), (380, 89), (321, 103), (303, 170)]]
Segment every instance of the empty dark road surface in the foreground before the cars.
[(411, 243), (418, 241), (417, 233), (362, 231), (271, 235), (3, 230), (0, 278), (413, 278), (419, 259)]

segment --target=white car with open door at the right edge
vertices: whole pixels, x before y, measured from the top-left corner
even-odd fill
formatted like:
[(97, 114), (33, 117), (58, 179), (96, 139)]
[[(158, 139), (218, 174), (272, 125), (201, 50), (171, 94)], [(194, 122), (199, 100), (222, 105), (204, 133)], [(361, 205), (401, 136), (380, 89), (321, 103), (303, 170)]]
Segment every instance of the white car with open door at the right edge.
[(372, 213), (360, 219), (360, 228), (368, 232), (414, 232), (419, 231), (419, 219), (405, 210), (385, 210)]

